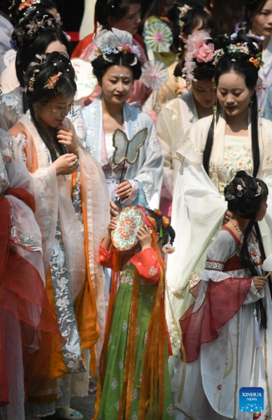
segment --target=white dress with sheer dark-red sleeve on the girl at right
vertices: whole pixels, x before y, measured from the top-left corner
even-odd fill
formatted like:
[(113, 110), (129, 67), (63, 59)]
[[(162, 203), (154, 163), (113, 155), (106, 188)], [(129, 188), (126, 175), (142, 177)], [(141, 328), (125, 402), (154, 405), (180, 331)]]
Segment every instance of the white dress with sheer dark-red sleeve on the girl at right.
[[(254, 233), (248, 250), (261, 276)], [(254, 294), (252, 274), (241, 262), (240, 252), (240, 240), (223, 227), (208, 248), (201, 281), (191, 289), (196, 299), (180, 319), (186, 363), (180, 360), (172, 381), (177, 420), (252, 420), (259, 410), (239, 409), (242, 387), (264, 388), (264, 411), (255, 418), (271, 419), (271, 292), (266, 283)], [(262, 298), (267, 329), (256, 332), (255, 302)]]

